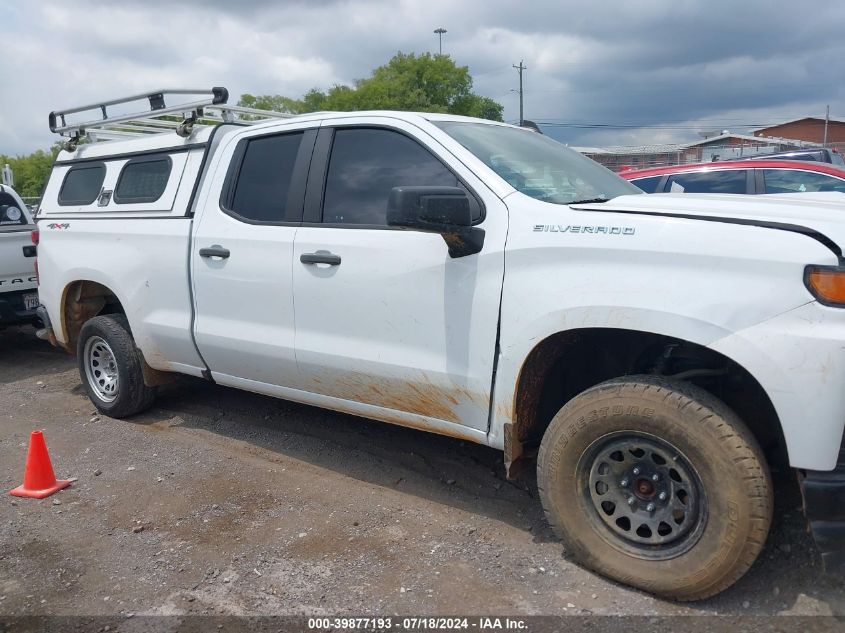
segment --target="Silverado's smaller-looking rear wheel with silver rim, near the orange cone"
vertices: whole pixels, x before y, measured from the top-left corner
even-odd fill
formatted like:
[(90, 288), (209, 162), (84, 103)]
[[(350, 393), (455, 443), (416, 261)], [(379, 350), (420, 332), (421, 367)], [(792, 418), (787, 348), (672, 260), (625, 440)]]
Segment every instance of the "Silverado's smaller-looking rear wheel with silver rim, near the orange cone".
[(88, 320), (76, 349), (82, 384), (98, 411), (125, 418), (152, 405), (156, 390), (144, 383), (141, 356), (125, 316)]

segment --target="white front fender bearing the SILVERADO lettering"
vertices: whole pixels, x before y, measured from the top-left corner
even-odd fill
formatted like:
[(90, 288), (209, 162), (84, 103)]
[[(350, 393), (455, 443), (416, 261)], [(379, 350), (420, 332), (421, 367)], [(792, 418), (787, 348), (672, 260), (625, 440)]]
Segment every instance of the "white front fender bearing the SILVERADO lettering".
[[(813, 301), (803, 283), (805, 267), (838, 261), (824, 245), (760, 226), (575, 211), (516, 194), (507, 204), (511, 224), (488, 434), (492, 446), (504, 448), (520, 371), (531, 351), (549, 336), (581, 328), (664, 335), (714, 349), (760, 382), (782, 419), (796, 420), (797, 405), (778, 393), (790, 390), (785, 376), (792, 358), (780, 353), (767, 358), (762, 333), (776, 327), (777, 315)], [(799, 338), (808, 343), (824, 338), (813, 327), (801, 328)], [(816, 349), (826, 344), (830, 341)], [(776, 367), (769, 370), (767, 364)], [(811, 365), (808, 359), (804, 367), (816, 375)], [(826, 416), (837, 406), (826, 403)], [(825, 437), (835, 434), (836, 425), (826, 425)], [(796, 464), (835, 461), (832, 450), (821, 461), (810, 460), (810, 449), (792, 435), (788, 448)], [(837, 440), (833, 448), (838, 445)]]

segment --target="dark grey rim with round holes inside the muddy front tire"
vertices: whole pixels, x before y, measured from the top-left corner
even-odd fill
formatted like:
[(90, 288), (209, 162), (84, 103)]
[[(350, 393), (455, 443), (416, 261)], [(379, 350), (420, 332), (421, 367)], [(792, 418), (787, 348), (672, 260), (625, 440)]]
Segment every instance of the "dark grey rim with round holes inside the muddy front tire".
[(602, 538), (642, 558), (673, 558), (704, 529), (698, 473), (671, 444), (634, 431), (599, 438), (578, 464), (582, 503)]

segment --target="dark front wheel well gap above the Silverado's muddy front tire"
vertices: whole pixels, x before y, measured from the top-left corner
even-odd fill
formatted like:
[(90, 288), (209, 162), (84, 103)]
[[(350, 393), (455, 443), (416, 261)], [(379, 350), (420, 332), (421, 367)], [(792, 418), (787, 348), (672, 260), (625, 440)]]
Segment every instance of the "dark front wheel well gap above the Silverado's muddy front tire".
[(515, 476), (560, 408), (582, 391), (625, 375), (685, 380), (713, 394), (748, 425), (770, 463), (788, 463), (783, 429), (760, 382), (741, 364), (699, 342), (620, 328), (557, 332), (540, 340), (519, 368), (502, 425), (505, 464)]

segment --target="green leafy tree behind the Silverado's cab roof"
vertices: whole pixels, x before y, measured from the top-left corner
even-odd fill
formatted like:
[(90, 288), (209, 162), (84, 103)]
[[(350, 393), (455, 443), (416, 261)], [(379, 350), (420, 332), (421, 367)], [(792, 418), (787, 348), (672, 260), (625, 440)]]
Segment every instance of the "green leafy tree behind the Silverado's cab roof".
[(354, 86), (336, 85), (327, 92), (312, 88), (302, 99), (245, 94), (238, 105), (291, 114), (318, 110), (447, 112), (494, 121), (502, 120), (503, 109), (493, 99), (472, 92), (469, 68), (458, 66), (448, 55), (402, 52)]

